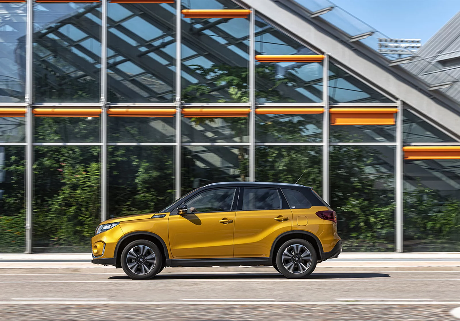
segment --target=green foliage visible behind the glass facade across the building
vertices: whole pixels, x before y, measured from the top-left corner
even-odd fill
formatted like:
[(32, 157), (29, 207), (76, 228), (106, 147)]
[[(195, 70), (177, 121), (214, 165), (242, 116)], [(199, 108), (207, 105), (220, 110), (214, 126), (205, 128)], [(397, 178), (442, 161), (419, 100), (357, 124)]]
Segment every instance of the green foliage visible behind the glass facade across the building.
[[(58, 64), (59, 62), (56, 62)], [(248, 101), (247, 68), (213, 65), (192, 66), (204, 83), (184, 88), (186, 102)], [(280, 86), (292, 79), (276, 75), (271, 64), (256, 66), (256, 97), (264, 101), (293, 101)], [(49, 76), (49, 75), (48, 75)], [(44, 77), (47, 77), (46, 75)], [(46, 79), (42, 79), (47, 83)], [(62, 92), (43, 86), (39, 96), (75, 100), (93, 97), (95, 82), (66, 80)], [(48, 92), (46, 92), (48, 91)], [(149, 118), (111, 117), (111, 141), (160, 141), (158, 128)], [(173, 118), (163, 123), (173, 126)], [(170, 122), (170, 123), (167, 123)], [(215, 118), (191, 118), (193, 126), (206, 126)], [(224, 123), (236, 141), (248, 135), (247, 117), (226, 117)], [(35, 140), (43, 142), (99, 141), (99, 120), (84, 117), (37, 117)], [(165, 125), (167, 126), (167, 125)], [(321, 142), (322, 119), (302, 115), (256, 120), (259, 141)], [(164, 139), (164, 138), (163, 138)], [(332, 140), (359, 141), (345, 130), (331, 131)], [(231, 145), (231, 143), (229, 144)], [(213, 146), (216, 148), (226, 148)], [(0, 251), (23, 251), (25, 242), (24, 148), (0, 146), (5, 163), (0, 167)], [(109, 216), (142, 214), (160, 210), (173, 201), (174, 147), (109, 147)], [(33, 242), (35, 251), (87, 251), (100, 210), (99, 146), (34, 146)], [(230, 152), (232, 153), (232, 152)], [(247, 147), (237, 147), (236, 175), (196, 165), (191, 149), (182, 149), (182, 194), (201, 177), (215, 181), (247, 180)], [(233, 155), (234, 156), (234, 155)], [(394, 177), (382, 166), (385, 155), (371, 146), (334, 146), (330, 150), (331, 206), (338, 213), (339, 235), (345, 251), (394, 250)], [(391, 163), (391, 162), (389, 162)], [(305, 172), (304, 172), (305, 171)], [(300, 179), (299, 179), (300, 177)], [(321, 146), (257, 146), (256, 178), (313, 186), (322, 193)], [(210, 181), (207, 181), (210, 182)], [(404, 195), (404, 237), (407, 248), (424, 251), (458, 251), (460, 200), (420, 185)]]

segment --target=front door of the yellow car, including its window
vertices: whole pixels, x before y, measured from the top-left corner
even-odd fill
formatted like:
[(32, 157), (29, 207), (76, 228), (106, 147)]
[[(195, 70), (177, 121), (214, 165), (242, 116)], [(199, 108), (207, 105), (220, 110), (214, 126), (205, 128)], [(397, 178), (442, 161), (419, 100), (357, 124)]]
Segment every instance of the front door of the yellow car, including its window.
[(237, 191), (238, 187), (202, 191), (184, 200), (186, 214), (170, 214), (169, 245), (175, 259), (233, 257)]

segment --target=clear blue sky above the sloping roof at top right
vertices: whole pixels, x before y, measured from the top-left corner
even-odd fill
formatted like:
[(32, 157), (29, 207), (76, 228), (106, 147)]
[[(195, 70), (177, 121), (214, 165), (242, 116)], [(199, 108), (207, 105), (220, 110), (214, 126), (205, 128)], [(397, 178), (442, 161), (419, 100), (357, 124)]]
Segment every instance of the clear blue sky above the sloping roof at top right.
[(421, 38), (422, 44), (460, 10), (460, 0), (331, 1), (391, 38)]

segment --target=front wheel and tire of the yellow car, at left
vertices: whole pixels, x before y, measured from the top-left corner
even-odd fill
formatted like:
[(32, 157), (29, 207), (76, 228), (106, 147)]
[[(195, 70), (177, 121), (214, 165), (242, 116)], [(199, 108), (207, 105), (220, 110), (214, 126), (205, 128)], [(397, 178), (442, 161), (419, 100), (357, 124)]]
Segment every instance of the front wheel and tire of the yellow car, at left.
[(121, 267), (133, 280), (151, 279), (163, 269), (163, 255), (154, 243), (138, 239), (121, 252)]

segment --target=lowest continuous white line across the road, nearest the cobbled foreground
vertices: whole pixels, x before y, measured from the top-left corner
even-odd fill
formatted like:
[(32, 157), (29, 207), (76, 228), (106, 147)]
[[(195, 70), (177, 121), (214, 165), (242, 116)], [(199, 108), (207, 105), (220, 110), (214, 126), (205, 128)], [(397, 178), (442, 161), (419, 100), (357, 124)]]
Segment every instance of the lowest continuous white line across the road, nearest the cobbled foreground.
[(319, 305), (319, 304), (379, 304), (379, 305), (426, 305), (426, 304), (455, 304), (459, 305), (460, 301), (0, 301), (0, 305), (6, 304), (261, 304), (261, 305), (280, 305), (280, 304), (304, 304), (304, 305)]

